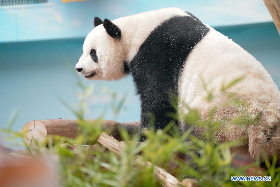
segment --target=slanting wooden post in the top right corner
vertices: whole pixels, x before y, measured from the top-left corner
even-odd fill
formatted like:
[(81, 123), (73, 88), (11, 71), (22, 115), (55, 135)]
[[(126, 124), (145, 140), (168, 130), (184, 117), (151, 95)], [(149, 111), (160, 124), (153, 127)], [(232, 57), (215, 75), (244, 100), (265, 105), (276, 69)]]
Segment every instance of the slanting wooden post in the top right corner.
[(273, 22), (280, 34), (280, 0), (264, 0)]

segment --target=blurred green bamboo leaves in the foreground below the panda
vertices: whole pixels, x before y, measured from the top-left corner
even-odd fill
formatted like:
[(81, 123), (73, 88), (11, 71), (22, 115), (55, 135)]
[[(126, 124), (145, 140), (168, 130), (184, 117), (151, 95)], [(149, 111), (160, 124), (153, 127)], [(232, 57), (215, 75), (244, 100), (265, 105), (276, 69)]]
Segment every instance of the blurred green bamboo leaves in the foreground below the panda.
[[(221, 93), (225, 93), (227, 89), (237, 84), (243, 78), (236, 79), (221, 87)], [(202, 80), (203, 81), (203, 80)], [(84, 151), (83, 145), (91, 145), (97, 143), (97, 138), (102, 133), (102, 117), (95, 122), (90, 123), (84, 120), (84, 112), (86, 109), (85, 98), (91, 95), (93, 86), (86, 87), (77, 78), (77, 83), (81, 88), (79, 98), (81, 101), (80, 108), (74, 110), (68, 105), (66, 101), (62, 103), (77, 116), (79, 126), (82, 131), (75, 139), (66, 137), (53, 136), (43, 143), (37, 145), (37, 153), (55, 153), (60, 156), (58, 161), (60, 168), (59, 181), (63, 186), (160, 186), (156, 175), (153, 172), (153, 167), (139, 168), (137, 166), (136, 156), (141, 152), (141, 156), (160, 166), (161, 168), (173, 174), (178, 180), (182, 181), (184, 178), (195, 178), (200, 186), (280, 186), (280, 168), (276, 167), (277, 158), (270, 163), (265, 160), (267, 170), (263, 176), (271, 176), (271, 182), (234, 182), (231, 181), (231, 176), (247, 176), (245, 170), (250, 166), (257, 166), (256, 176), (258, 175), (259, 160), (252, 165), (235, 168), (232, 166), (232, 158), (235, 153), (231, 153), (231, 148), (242, 145), (242, 137), (233, 142), (219, 142), (216, 139), (216, 133), (219, 132), (221, 126), (239, 124), (240, 126), (248, 123), (254, 123), (259, 119), (259, 116), (249, 116), (244, 112), (244, 115), (231, 120), (218, 121), (215, 120), (216, 108), (209, 111), (207, 119), (203, 119), (197, 109), (186, 107), (189, 113), (184, 116), (184, 122), (190, 125), (189, 129), (181, 134), (179, 128), (174, 121), (170, 122), (165, 129), (153, 132), (153, 128), (146, 130), (144, 133), (147, 140), (142, 144), (138, 144), (139, 137), (137, 135), (129, 135), (123, 129), (120, 129), (121, 137), (124, 141), (129, 142), (121, 152), (117, 155), (111, 151), (106, 151), (105, 148), (100, 148), (92, 154), (95, 158), (88, 159), (87, 152)], [(207, 84), (203, 83), (205, 90)], [(106, 90), (112, 94), (113, 101), (111, 103), (115, 115), (124, 106), (125, 96), (121, 101), (116, 101), (116, 93)], [(214, 98), (212, 90), (207, 90), (208, 96), (205, 98), (211, 102)], [(235, 108), (240, 108), (240, 105), (245, 103), (238, 100), (234, 94), (226, 94), (228, 97), (227, 105)], [(170, 114), (175, 119), (178, 119), (176, 114)], [(153, 123), (153, 120), (151, 120)], [(200, 137), (192, 135), (194, 127), (203, 128), (204, 131)], [(12, 133), (14, 137), (21, 137), (22, 134), (12, 132), (11, 130), (3, 130)], [(187, 140), (187, 141), (186, 141)], [(76, 155), (73, 150), (68, 150), (60, 146), (62, 143), (68, 142), (75, 144), (77, 147)], [(46, 144), (48, 143), (48, 147)], [(29, 145), (26, 149), (30, 151)], [(176, 153), (186, 153), (188, 160), (186, 163), (176, 161), (179, 167), (170, 170), (169, 164), (172, 157)], [(30, 152), (31, 153), (31, 152)], [(34, 154), (34, 153), (32, 153)], [(77, 156), (79, 160), (85, 160), (83, 165), (68, 164)]]

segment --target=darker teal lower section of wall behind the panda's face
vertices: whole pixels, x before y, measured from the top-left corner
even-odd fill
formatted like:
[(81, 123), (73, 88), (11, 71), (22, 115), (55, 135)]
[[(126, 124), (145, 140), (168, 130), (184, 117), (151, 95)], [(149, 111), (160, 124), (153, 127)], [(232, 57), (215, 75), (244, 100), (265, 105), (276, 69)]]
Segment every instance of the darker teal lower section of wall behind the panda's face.
[[(240, 26), (217, 27), (218, 31), (232, 38), (259, 60), (279, 88), (279, 35), (272, 22)], [(0, 43), (1, 61), (1, 128), (7, 127), (8, 118), (15, 108), (19, 117), (13, 126), (20, 130), (23, 125), (34, 119), (75, 118), (63, 106), (59, 97), (77, 108), (78, 99), (75, 79), (68, 69), (69, 61), (74, 68), (82, 54), (83, 38)], [(121, 81), (88, 81), (93, 83), (94, 94), (87, 102), (91, 106), (86, 117), (96, 118), (104, 113), (105, 119), (119, 121), (139, 120), (140, 107), (138, 97), (134, 95), (131, 77)], [(118, 93), (120, 98), (127, 94), (126, 110), (115, 117), (110, 110), (110, 94), (104, 93), (104, 87)]]

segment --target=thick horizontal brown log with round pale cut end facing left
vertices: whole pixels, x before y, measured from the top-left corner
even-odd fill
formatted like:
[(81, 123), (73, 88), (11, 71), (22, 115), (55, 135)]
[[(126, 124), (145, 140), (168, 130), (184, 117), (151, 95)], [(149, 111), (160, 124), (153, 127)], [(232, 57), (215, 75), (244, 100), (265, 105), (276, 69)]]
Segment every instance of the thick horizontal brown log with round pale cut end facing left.
[[(97, 122), (95, 119), (86, 120), (87, 122)], [(103, 120), (104, 129), (110, 129), (114, 137), (120, 139), (118, 127), (123, 127), (132, 134), (139, 128), (140, 122), (116, 122), (111, 120)], [(74, 119), (48, 119), (33, 120), (27, 122), (22, 128), (23, 140), (29, 146), (36, 147), (36, 141), (42, 142), (48, 135), (59, 135), (68, 138), (75, 138), (79, 131), (77, 120)]]

